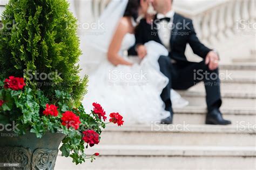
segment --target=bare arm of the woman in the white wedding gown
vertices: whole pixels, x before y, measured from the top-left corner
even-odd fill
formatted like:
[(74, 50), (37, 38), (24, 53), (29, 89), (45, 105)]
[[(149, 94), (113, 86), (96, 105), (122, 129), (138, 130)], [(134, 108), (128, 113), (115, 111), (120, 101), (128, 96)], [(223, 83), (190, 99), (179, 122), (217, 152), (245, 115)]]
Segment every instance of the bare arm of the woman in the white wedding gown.
[(132, 63), (127, 62), (122, 56), (119, 55), (119, 51), (123, 42), (123, 38), (128, 32), (129, 25), (127, 25), (124, 19), (121, 19), (116, 33), (114, 33), (112, 42), (109, 46), (109, 51), (107, 52), (107, 59), (113, 65), (132, 65)]

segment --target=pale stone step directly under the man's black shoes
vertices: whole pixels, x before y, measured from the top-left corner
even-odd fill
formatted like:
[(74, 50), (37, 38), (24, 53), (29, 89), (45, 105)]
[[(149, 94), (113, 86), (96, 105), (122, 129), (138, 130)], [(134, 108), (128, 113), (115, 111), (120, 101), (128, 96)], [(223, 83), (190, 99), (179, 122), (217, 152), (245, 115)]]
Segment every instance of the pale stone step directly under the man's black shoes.
[(255, 146), (254, 126), (126, 125), (109, 126), (100, 145)]

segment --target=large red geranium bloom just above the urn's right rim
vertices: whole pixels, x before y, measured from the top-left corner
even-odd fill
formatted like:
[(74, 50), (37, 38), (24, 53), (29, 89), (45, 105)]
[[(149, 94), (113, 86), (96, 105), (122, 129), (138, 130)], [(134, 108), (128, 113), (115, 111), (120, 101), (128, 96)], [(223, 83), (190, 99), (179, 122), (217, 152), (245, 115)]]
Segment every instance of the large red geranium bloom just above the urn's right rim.
[(71, 111), (66, 111), (62, 114), (62, 125), (68, 126), (68, 128), (73, 127), (75, 130), (79, 128), (80, 124), (79, 116)]

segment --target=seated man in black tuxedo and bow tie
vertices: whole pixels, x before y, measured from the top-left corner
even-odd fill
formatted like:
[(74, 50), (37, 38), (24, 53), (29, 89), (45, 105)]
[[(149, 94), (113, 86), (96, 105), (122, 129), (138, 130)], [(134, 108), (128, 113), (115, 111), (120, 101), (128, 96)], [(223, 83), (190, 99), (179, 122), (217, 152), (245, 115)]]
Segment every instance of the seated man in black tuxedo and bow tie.
[[(170, 117), (161, 120), (161, 124), (172, 124), (173, 111), (171, 89), (187, 90), (200, 81), (204, 81), (206, 89), (207, 116), (206, 124), (228, 125), (231, 121), (222, 117), (220, 80), (218, 76), (219, 56), (208, 49), (198, 39), (191, 19), (185, 18), (172, 10), (173, 0), (150, 0), (158, 12), (152, 23), (142, 19), (136, 30), (136, 50), (140, 58), (146, 56), (145, 43), (154, 40), (169, 50), (169, 56), (160, 56), (160, 71), (169, 78), (169, 84), (161, 93), (165, 110), (171, 112)], [(188, 62), (185, 56), (186, 45), (203, 58), (203, 62)], [(212, 76), (211, 76), (212, 75)]]

